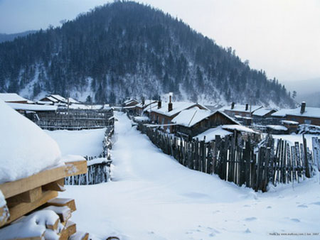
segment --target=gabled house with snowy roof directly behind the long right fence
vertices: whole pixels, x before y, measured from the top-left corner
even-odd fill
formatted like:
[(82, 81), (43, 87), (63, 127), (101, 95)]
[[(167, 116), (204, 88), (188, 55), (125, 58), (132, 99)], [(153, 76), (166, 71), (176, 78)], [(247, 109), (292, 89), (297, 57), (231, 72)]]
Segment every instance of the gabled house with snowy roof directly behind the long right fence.
[(199, 109), (198, 107), (181, 111), (172, 119), (172, 123), (176, 124), (174, 126), (176, 133), (189, 137), (196, 136), (220, 125), (240, 125), (222, 111), (211, 112), (206, 109)]

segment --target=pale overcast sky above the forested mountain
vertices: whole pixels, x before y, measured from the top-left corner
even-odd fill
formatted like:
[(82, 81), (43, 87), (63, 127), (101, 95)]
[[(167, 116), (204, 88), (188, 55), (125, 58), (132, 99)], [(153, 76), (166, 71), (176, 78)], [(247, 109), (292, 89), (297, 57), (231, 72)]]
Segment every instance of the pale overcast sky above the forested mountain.
[[(0, 0), (0, 33), (59, 26), (106, 0)], [(140, 0), (280, 82), (320, 77), (320, 0)]]

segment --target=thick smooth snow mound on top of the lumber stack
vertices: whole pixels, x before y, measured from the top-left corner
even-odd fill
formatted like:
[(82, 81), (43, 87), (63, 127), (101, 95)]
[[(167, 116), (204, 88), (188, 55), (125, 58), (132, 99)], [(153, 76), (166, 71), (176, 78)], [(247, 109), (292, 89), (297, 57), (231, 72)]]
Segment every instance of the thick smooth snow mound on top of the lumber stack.
[(59, 165), (58, 144), (0, 99), (0, 183)]

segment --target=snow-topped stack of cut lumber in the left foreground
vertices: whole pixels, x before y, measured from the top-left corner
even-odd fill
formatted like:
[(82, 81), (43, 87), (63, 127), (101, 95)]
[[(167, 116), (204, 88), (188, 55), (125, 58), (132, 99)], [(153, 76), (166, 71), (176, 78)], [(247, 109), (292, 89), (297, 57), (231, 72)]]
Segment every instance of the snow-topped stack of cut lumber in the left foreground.
[(0, 239), (87, 239), (70, 221), (75, 201), (58, 198), (64, 178), (87, 173), (58, 144), (0, 100)]

